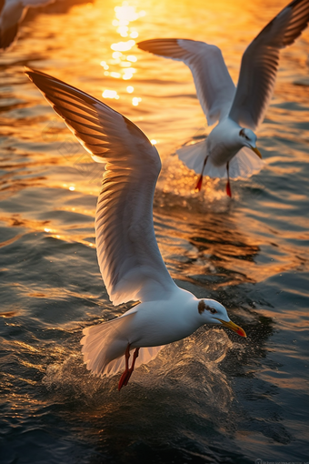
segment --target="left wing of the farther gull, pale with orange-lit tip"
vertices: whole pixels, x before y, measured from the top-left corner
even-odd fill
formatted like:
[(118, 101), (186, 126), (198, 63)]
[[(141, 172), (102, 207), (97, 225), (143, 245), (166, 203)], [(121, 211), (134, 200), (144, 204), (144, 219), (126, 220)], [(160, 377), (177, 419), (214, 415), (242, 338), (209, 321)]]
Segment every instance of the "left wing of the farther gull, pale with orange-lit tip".
[(145, 40), (137, 46), (154, 55), (183, 61), (189, 66), (198, 99), (210, 126), (228, 114), (235, 87), (217, 46), (173, 38)]

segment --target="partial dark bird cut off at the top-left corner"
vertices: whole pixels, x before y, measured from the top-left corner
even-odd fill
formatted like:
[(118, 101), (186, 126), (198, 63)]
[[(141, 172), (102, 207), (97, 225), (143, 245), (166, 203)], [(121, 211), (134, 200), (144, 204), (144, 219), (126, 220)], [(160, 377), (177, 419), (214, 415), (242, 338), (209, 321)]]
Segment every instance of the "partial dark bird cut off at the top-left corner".
[(14, 44), (18, 26), (29, 7), (45, 6), (54, 2), (55, 0), (0, 0), (0, 51)]

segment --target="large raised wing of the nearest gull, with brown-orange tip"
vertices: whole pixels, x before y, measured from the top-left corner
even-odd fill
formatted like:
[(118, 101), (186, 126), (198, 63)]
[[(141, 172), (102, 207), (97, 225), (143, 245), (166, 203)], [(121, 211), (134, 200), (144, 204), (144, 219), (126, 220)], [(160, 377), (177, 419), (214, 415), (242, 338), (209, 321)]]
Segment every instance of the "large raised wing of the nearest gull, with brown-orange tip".
[(143, 132), (109, 106), (38, 71), (26, 74), (85, 149), (106, 162), (95, 216), (97, 257), (111, 301), (157, 300), (173, 290), (154, 236), (160, 157)]

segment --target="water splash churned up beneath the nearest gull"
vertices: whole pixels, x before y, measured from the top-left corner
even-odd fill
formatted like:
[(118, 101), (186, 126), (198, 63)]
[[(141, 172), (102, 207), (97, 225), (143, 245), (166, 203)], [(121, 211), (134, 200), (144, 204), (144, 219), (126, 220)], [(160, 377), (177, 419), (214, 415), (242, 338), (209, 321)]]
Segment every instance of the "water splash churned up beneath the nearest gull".
[[(232, 347), (223, 330), (199, 330), (185, 340), (166, 346), (154, 361), (137, 368), (125, 388), (125, 397), (135, 397), (136, 388), (147, 395), (151, 392), (154, 397), (162, 388), (171, 388), (177, 398), (179, 395), (188, 396), (191, 401), (203, 398), (209, 407), (226, 412), (234, 394), (219, 364)], [(94, 377), (86, 370), (82, 355), (71, 353), (63, 362), (48, 366), (42, 383), (59, 399), (106, 405), (115, 398), (122, 401), (123, 396), (116, 391), (118, 377)]]

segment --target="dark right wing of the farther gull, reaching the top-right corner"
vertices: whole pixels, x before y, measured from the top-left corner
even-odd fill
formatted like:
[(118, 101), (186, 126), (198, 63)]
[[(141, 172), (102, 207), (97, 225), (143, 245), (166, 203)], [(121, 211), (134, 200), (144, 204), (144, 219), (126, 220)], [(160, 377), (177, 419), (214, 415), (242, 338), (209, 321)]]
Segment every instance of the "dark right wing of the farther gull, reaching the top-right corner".
[(293, 44), (309, 21), (308, 0), (294, 0), (254, 38), (242, 59), (230, 117), (255, 129), (273, 95), (281, 48)]

